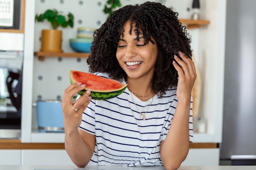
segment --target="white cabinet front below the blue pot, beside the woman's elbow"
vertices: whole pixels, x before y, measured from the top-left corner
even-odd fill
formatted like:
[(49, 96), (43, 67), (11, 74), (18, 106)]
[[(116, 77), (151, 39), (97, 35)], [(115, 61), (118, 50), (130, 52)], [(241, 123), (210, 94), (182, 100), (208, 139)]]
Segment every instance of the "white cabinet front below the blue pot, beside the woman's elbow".
[(65, 150), (22, 150), (22, 165), (72, 165)]

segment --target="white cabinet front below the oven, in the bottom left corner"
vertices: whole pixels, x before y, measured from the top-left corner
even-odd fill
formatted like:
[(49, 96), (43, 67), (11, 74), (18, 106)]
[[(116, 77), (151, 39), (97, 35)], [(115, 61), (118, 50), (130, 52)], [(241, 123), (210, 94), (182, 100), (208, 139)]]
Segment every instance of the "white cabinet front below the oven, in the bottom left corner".
[(0, 150), (0, 165), (20, 165), (21, 150)]

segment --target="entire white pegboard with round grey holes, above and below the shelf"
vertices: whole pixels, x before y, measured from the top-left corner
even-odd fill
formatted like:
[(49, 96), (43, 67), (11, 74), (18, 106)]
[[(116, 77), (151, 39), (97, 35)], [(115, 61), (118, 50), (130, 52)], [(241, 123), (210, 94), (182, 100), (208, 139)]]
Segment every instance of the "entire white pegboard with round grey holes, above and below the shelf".
[[(35, 13), (44, 13), (47, 9), (57, 9), (63, 15), (71, 12), (74, 15), (74, 27), (58, 29), (63, 31), (62, 49), (64, 52), (74, 52), (69, 44), (70, 38), (76, 38), (77, 28), (91, 27), (97, 29), (105, 22), (107, 14), (103, 13), (107, 0), (36, 0)], [(152, 0), (164, 2), (167, 7), (178, 9), (179, 16), (187, 16), (186, 10), (191, 7), (192, 0)], [(146, 0), (121, 0), (122, 5), (143, 3)], [(177, 11), (177, 10), (176, 10)], [(42, 29), (51, 29), (47, 21), (36, 22), (34, 31), (34, 51), (40, 51), (40, 37)], [(65, 88), (70, 84), (70, 70), (88, 72), (88, 65), (85, 58), (76, 57), (45, 57), (45, 61), (34, 58), (33, 73), (33, 102), (38, 99), (62, 99)], [(41, 98), (38, 98), (41, 97)]]

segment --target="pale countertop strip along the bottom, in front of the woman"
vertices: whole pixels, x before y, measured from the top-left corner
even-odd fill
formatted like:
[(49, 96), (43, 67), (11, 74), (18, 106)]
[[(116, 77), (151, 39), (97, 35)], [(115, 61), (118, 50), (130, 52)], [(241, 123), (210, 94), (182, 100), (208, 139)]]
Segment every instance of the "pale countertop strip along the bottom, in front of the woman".
[[(163, 166), (127, 167), (127, 166), (18, 166), (0, 165), (0, 170), (164, 170)], [(181, 166), (178, 170), (256, 170), (256, 166)]]

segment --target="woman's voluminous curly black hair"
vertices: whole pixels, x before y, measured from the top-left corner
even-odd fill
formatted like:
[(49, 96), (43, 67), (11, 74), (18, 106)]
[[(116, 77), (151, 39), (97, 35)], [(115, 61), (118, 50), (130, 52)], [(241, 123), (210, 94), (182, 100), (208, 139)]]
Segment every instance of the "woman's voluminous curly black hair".
[[(124, 33), (124, 24), (135, 24), (135, 33), (143, 34), (146, 43), (157, 44), (157, 61), (152, 80), (152, 90), (161, 97), (166, 89), (177, 86), (178, 75), (172, 62), (173, 56), (182, 51), (191, 58), (191, 37), (178, 20), (178, 13), (156, 2), (127, 5), (115, 11), (94, 32), (91, 54), (87, 63), (89, 71), (108, 73), (110, 78), (127, 79), (116, 57), (117, 43)], [(150, 37), (155, 39), (155, 42)]]

